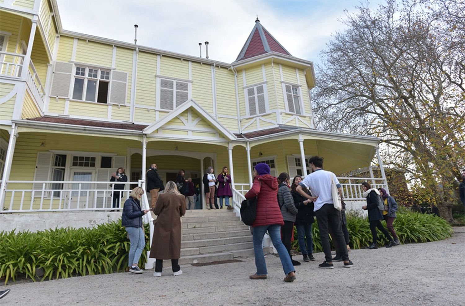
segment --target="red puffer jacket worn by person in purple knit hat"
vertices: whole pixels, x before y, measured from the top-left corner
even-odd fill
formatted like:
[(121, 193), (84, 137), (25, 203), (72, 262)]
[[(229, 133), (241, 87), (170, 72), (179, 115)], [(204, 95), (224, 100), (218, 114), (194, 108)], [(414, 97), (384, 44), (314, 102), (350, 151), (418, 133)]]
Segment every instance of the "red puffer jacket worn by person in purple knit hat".
[(272, 224), (284, 225), (277, 195), (278, 181), (276, 177), (265, 174), (253, 178), (252, 189), (245, 195), (246, 199), (257, 196), (257, 217), (252, 224), (252, 228)]

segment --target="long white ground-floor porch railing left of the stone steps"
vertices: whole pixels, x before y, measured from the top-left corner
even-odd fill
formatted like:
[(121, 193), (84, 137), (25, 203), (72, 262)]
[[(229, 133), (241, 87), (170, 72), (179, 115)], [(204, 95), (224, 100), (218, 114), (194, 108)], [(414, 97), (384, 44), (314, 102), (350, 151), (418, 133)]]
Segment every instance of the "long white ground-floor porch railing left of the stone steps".
[[(88, 181), (8, 181), (1, 213), (121, 210), (131, 189), (115, 190), (115, 185), (140, 182)], [(118, 207), (113, 208), (114, 191), (120, 191)], [(146, 208), (148, 209), (148, 208)]]

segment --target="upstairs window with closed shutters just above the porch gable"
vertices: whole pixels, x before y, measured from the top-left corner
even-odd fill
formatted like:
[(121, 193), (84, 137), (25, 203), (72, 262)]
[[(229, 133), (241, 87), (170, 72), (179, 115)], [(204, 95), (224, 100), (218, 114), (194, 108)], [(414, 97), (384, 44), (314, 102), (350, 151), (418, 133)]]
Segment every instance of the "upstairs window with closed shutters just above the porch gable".
[(160, 79), (160, 109), (174, 110), (189, 99), (189, 84), (178, 80)]

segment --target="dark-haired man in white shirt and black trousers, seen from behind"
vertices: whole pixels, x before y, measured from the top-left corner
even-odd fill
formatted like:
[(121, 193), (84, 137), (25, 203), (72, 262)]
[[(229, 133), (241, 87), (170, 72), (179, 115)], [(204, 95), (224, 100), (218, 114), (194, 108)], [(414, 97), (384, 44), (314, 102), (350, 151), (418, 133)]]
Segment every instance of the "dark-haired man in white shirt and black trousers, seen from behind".
[[(338, 251), (340, 251), (341, 257), (344, 260), (344, 267), (350, 268), (353, 266), (353, 263), (349, 260), (349, 254), (347, 253), (344, 234), (342, 233), (341, 228), (341, 220), (339, 217), (340, 212), (334, 208), (331, 192), (332, 181), (334, 181), (342, 199), (341, 185), (334, 173), (322, 169), (322, 157), (313, 156), (309, 159), (309, 163), (312, 167), (312, 173), (300, 182), (296, 190), (299, 194), (312, 200), (315, 204), (313, 211), (317, 216), (321, 246), (323, 247), (323, 252), (325, 252), (325, 261), (322, 264), (319, 264), (318, 267), (324, 269), (334, 268), (332, 264), (331, 245), (329, 244), (328, 236), (328, 231), (330, 230), (334, 246), (338, 249)], [(313, 196), (307, 195), (303, 190), (303, 187), (310, 189)]]

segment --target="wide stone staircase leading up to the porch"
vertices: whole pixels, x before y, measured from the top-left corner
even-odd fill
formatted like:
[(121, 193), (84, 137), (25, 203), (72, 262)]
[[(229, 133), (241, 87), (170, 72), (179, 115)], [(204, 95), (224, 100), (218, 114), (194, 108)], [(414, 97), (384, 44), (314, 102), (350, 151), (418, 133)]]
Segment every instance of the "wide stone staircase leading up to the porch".
[(253, 256), (252, 234), (232, 210), (187, 210), (179, 264)]

